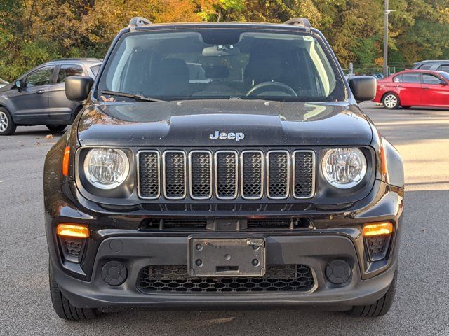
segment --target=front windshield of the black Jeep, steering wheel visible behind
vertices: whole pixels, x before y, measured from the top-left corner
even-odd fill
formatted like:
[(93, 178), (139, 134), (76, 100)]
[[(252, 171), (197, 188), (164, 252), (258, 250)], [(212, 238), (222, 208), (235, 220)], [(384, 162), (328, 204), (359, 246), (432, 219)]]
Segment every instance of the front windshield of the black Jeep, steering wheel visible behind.
[(319, 39), (298, 32), (128, 33), (107, 62), (97, 96), (109, 99), (101, 93), (109, 91), (163, 100), (344, 100), (342, 79), (325, 50)]

